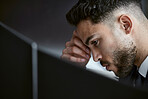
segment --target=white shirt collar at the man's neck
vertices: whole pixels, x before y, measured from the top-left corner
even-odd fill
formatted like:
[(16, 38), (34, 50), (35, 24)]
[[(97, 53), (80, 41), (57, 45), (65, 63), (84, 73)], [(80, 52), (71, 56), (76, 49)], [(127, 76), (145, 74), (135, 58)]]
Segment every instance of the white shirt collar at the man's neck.
[(143, 61), (143, 63), (141, 64), (140, 68), (139, 68), (139, 73), (146, 78), (146, 74), (148, 71), (148, 56), (146, 57), (146, 59)]

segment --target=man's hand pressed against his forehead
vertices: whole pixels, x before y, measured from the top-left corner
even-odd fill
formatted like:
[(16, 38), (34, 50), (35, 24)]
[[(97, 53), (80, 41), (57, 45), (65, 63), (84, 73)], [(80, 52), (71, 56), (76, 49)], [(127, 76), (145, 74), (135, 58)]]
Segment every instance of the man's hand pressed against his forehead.
[(77, 36), (76, 31), (74, 31), (72, 39), (66, 43), (61, 58), (85, 66), (90, 56), (90, 49), (83, 44), (81, 39)]

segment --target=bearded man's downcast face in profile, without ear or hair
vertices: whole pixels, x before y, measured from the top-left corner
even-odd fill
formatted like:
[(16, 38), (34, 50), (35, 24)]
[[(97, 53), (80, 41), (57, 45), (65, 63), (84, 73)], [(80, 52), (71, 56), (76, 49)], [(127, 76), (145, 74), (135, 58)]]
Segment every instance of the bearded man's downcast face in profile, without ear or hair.
[(92, 24), (84, 20), (77, 25), (77, 33), (91, 49), (94, 61), (100, 60), (102, 66), (119, 77), (130, 73), (136, 57), (136, 46), (119, 26), (113, 29), (103, 23)]

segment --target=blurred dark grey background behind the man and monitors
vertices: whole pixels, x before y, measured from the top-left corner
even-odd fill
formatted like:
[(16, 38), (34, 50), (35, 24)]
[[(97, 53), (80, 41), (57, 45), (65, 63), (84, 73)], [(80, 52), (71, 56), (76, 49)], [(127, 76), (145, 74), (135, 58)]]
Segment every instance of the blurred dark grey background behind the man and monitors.
[[(59, 57), (75, 28), (67, 23), (65, 14), (77, 1), (1, 0), (0, 21)], [(142, 3), (146, 14), (148, 1)]]

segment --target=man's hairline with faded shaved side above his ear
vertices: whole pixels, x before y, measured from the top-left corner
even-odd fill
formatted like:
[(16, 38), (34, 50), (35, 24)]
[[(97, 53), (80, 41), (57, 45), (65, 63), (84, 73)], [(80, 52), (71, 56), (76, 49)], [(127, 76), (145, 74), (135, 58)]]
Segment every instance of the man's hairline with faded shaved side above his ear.
[[(143, 19), (145, 17), (145, 15), (144, 15), (141, 7), (138, 6), (137, 3), (130, 3), (130, 4), (125, 5), (125, 6), (123, 5), (121, 7), (117, 7), (114, 10), (112, 10), (111, 12), (106, 13), (106, 16), (104, 18), (102, 18), (102, 20), (100, 20), (97, 23), (93, 22), (90, 17), (87, 17), (86, 19), (83, 19), (81, 21), (90, 20), (92, 25), (99, 24), (99, 23), (104, 23), (104, 24), (108, 24), (108, 25), (112, 26), (113, 22), (117, 21), (117, 18), (116, 18), (117, 14), (130, 15), (130, 16), (136, 18), (137, 20), (139, 20), (141, 22), (145, 22), (144, 19)], [(78, 26), (78, 24), (76, 26)]]

